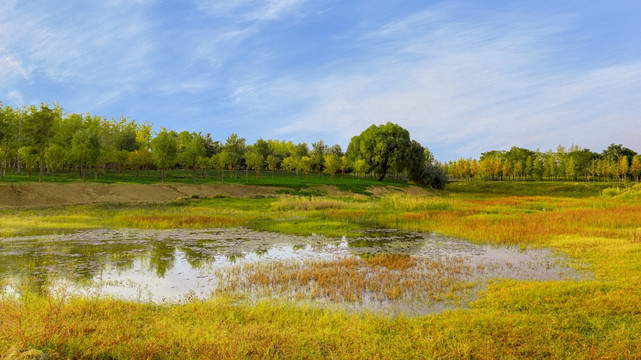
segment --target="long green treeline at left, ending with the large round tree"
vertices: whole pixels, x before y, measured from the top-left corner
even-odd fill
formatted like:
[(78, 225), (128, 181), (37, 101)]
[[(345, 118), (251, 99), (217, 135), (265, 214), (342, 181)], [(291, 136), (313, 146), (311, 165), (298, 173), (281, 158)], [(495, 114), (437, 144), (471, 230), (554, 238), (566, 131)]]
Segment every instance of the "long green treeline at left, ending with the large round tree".
[(300, 142), (259, 139), (247, 144), (231, 134), (224, 143), (210, 134), (162, 128), (154, 134), (148, 122), (136, 123), (125, 116), (107, 120), (92, 114), (65, 114), (59, 105), (21, 108), (0, 103), (0, 169), (2, 181), (14, 174), (45, 173), (55, 180), (56, 172), (106, 174), (135, 170), (136, 175), (160, 170), (162, 180), (171, 169), (190, 169), (196, 182), (198, 171), (265, 169), (295, 172), (336, 173), (367, 176), (379, 180), (386, 175), (409, 179), (422, 185), (444, 187), (447, 178), (431, 153), (409, 137), (409, 132), (388, 123), (355, 136), (346, 153), (340, 145), (322, 140), (309, 146)]

